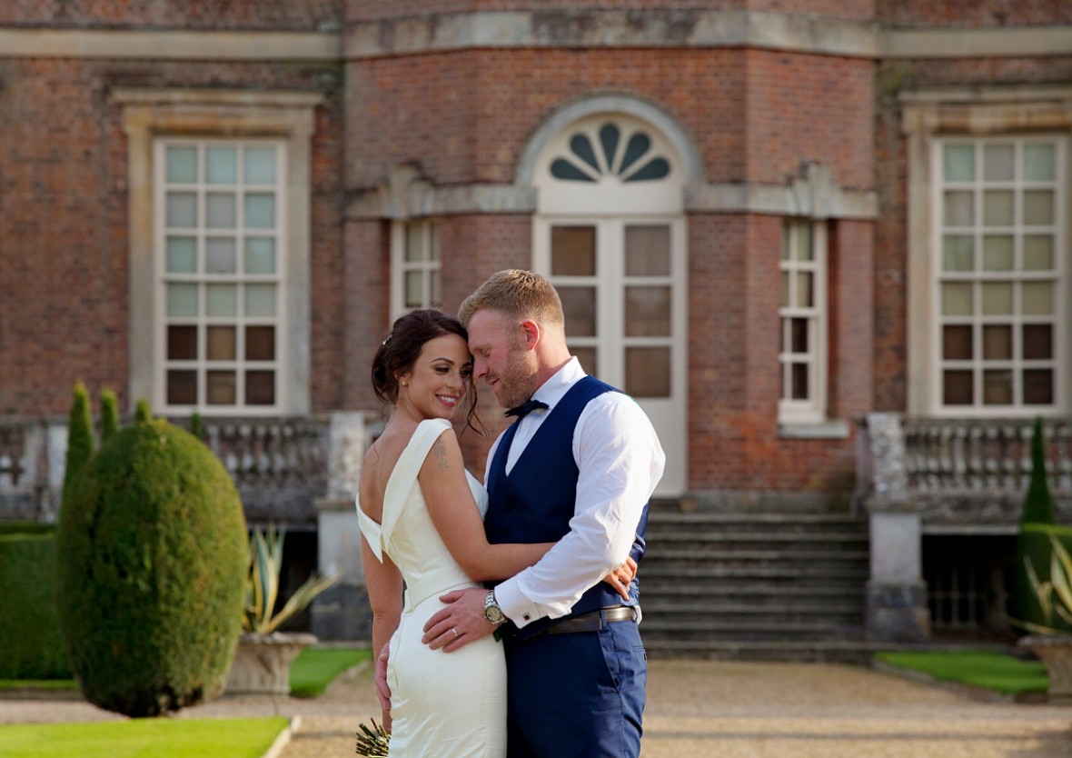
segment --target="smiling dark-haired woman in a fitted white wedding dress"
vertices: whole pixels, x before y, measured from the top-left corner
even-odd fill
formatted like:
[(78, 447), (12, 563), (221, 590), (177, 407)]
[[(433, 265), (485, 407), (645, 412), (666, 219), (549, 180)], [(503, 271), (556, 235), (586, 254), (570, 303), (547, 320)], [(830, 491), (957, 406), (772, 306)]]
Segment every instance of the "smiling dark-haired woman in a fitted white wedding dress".
[(389, 641), (383, 718), (394, 758), (506, 755), (502, 646), (486, 636), (448, 655), (421, 643), (422, 626), (441, 595), (510, 577), (552, 545), (485, 537), (488, 495), (465, 471), (450, 423), (468, 397), (466, 427), (479, 425), (472, 367), (461, 323), (435, 310), (394, 322), (372, 362), (373, 390), (393, 410), (366, 454), (357, 512), (373, 651)]

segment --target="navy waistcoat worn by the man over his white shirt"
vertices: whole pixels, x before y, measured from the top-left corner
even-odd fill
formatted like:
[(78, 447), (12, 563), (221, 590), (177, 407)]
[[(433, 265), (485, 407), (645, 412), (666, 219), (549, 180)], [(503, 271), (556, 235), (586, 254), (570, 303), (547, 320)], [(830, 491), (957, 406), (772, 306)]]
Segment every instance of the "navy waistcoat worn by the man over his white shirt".
[[(585, 376), (574, 384), (548, 413), (509, 475), (506, 458), (519, 422), (506, 430), (488, 470), (488, 514), (483, 524), (489, 543), (554, 543), (569, 532), (580, 474), (574, 461), (574, 430), (584, 406), (611, 391), (620, 390), (594, 376)], [(647, 509), (645, 503), (630, 552), (638, 563), (643, 555)], [(629, 596), (625, 603), (609, 584), (599, 582), (581, 596), (565, 618), (598, 608), (637, 605), (640, 600), (636, 579), (629, 588)], [(517, 636), (530, 637), (561, 620), (540, 619), (518, 630)], [(513, 631), (512, 624), (509, 631)]]

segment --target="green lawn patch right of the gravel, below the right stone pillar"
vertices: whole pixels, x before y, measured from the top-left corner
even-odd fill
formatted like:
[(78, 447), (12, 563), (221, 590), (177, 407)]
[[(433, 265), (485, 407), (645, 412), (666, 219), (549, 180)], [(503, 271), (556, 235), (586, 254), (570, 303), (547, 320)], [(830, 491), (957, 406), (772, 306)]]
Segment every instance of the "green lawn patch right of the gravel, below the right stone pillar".
[(876, 653), (875, 659), (921, 671), (941, 682), (961, 682), (1002, 695), (1044, 693), (1049, 686), (1046, 667), (1041, 662), (986, 650)]

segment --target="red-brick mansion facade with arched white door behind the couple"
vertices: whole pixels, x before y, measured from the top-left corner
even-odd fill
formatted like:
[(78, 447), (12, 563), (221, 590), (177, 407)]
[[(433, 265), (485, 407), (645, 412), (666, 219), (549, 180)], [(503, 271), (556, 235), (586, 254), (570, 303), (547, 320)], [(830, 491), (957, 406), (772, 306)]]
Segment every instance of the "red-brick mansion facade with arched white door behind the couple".
[(1036, 415), (1070, 512), (1070, 131), (1062, 0), (3, 3), (0, 517), (83, 380), (324, 563), (392, 318), (533, 268), (668, 510), (869, 515), (874, 634), (1000, 626)]

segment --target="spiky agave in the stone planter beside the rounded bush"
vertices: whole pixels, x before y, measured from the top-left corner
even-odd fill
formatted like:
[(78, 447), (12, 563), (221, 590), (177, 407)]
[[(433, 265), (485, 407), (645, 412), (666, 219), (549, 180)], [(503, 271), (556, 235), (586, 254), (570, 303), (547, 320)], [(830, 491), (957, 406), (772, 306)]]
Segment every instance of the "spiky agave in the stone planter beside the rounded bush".
[(287, 619), (304, 610), (314, 597), (338, 580), (338, 577), (325, 577), (314, 571), (277, 613), (276, 601), (279, 599), (285, 536), (285, 530), (273, 527), (267, 531), (254, 530), (250, 536), (245, 612), (242, 613), (244, 631), (270, 635)]

